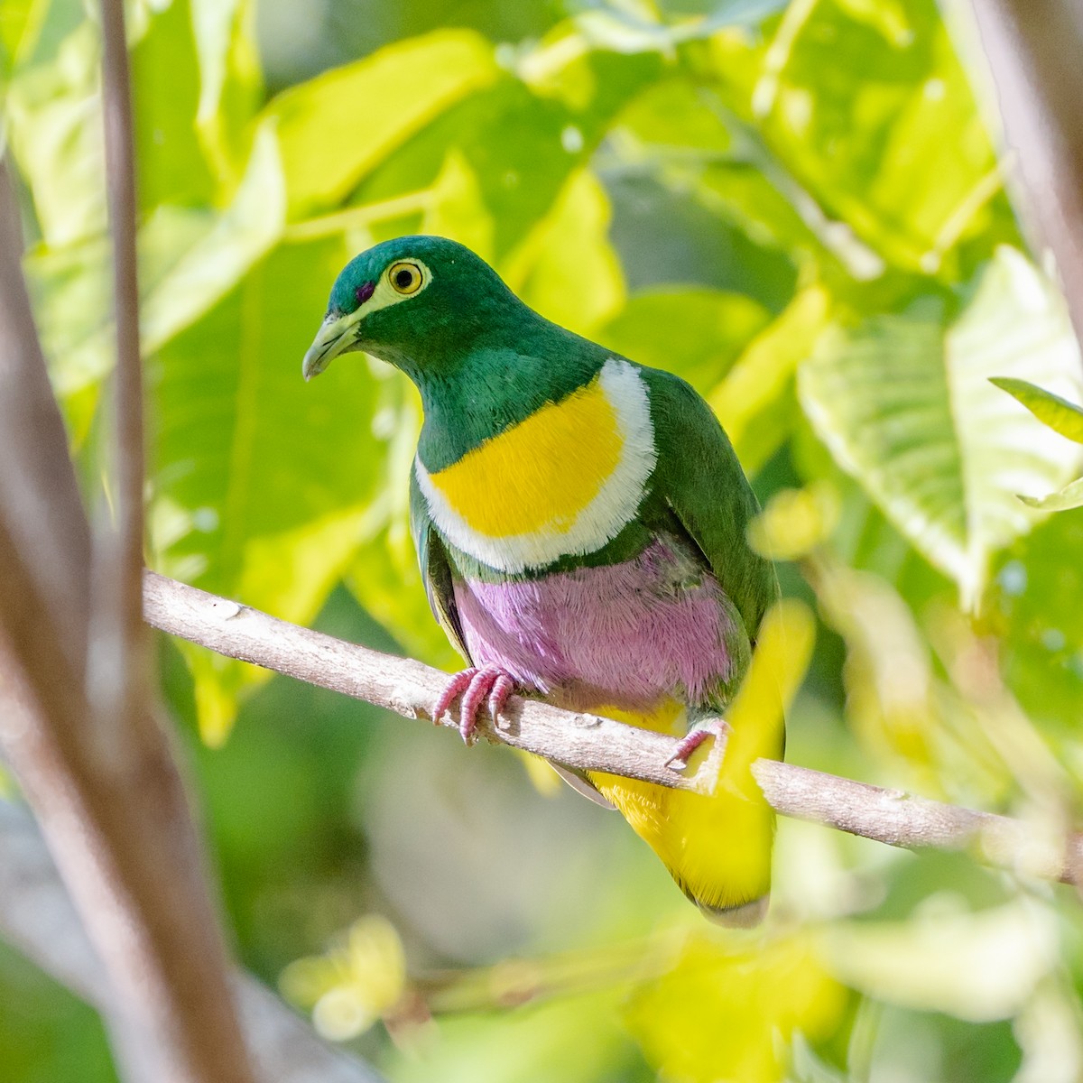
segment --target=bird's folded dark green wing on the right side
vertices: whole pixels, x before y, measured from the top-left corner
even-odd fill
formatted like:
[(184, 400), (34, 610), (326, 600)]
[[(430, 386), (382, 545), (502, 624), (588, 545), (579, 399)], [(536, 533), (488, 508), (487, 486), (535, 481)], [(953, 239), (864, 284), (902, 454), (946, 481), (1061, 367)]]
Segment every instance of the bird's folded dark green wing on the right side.
[(710, 407), (671, 373), (643, 368), (658, 447), (655, 492), (699, 546), (748, 639), (779, 596), (770, 561), (747, 542), (759, 505)]

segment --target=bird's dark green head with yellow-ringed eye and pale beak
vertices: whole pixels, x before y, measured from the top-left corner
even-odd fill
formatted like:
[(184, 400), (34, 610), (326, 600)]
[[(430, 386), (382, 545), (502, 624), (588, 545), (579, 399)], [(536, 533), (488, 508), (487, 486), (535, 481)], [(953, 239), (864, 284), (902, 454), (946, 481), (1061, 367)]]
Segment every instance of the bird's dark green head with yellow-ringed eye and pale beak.
[(420, 379), (532, 316), (469, 248), (444, 237), (396, 237), (343, 268), (302, 373), (311, 379), (340, 353), (364, 350)]

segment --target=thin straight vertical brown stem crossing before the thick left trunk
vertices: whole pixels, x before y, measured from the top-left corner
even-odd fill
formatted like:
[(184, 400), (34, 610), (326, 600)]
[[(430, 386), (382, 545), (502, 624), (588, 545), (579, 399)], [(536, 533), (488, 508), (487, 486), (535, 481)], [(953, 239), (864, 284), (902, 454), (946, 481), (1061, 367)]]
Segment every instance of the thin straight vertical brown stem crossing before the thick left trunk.
[(138, 723), (147, 695), (141, 627), (143, 567), (143, 380), (140, 363), (136, 199), (131, 82), (123, 0), (102, 0), (105, 165), (113, 236), (116, 367), (113, 374), (113, 519), (94, 546), (90, 695), (99, 726)]

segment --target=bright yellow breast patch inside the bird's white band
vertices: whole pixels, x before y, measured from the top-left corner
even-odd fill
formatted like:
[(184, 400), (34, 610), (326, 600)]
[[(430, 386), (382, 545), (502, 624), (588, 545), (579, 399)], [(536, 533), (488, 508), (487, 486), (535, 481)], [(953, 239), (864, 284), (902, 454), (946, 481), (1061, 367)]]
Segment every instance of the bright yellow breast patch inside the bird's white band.
[(430, 479), (487, 537), (561, 531), (598, 496), (623, 449), (616, 410), (596, 377)]

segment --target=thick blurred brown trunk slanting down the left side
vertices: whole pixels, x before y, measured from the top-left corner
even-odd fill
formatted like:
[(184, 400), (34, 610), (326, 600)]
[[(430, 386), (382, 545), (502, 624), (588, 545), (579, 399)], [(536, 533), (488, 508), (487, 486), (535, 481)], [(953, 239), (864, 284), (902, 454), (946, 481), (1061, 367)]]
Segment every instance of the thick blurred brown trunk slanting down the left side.
[[(90, 531), (21, 249), (11, 191), (0, 183), (0, 745), (109, 975), (126, 1078), (251, 1083), (170, 742), (143, 690), (121, 695), (128, 714), (110, 718), (104, 734), (88, 702)], [(126, 544), (138, 554), (139, 498), (127, 498), (134, 518)], [(139, 582), (131, 551), (115, 566)], [(138, 639), (129, 631), (112, 649), (127, 652)], [(132, 671), (127, 661), (113, 670), (125, 680)]]

